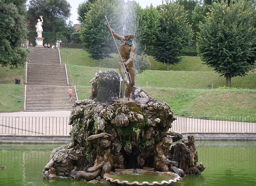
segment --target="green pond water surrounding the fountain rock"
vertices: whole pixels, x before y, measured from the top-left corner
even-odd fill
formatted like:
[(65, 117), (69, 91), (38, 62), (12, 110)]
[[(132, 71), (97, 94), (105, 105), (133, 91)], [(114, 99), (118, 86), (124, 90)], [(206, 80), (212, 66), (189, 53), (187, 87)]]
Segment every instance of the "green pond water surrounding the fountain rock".
[[(0, 144), (0, 166), (6, 167), (0, 169), (0, 186), (93, 186), (70, 178), (42, 178), (55, 147), (60, 145)], [(206, 169), (174, 186), (256, 186), (255, 141), (197, 141), (196, 148)]]

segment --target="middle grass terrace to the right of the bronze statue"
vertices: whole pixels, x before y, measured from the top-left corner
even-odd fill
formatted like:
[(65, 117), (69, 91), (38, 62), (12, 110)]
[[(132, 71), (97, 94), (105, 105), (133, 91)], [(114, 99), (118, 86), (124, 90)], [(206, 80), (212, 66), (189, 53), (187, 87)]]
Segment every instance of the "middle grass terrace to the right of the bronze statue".
[[(232, 87), (256, 89), (256, 74), (248, 73), (244, 77), (231, 78)], [(137, 85), (150, 87), (173, 87), (188, 89), (209, 89), (226, 84), (226, 79), (214, 71), (158, 71), (146, 70), (137, 75)]]

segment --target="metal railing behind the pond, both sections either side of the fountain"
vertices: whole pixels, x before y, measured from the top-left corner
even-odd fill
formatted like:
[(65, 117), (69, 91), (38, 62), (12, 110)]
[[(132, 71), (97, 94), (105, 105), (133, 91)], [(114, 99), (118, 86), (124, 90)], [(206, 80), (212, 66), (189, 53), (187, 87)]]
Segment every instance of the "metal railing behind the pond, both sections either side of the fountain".
[[(72, 126), (69, 117), (0, 117), (0, 135), (62, 135)], [(180, 133), (256, 133), (254, 117), (177, 117), (171, 130)]]

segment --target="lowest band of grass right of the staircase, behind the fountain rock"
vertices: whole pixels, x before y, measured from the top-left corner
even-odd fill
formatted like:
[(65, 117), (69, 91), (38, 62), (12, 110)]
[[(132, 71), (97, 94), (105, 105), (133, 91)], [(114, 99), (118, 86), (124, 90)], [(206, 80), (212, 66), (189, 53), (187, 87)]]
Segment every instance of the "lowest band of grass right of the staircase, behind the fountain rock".
[[(175, 116), (256, 117), (256, 90), (141, 87), (159, 102), (166, 102)], [(89, 99), (91, 87), (78, 86), (79, 99)]]

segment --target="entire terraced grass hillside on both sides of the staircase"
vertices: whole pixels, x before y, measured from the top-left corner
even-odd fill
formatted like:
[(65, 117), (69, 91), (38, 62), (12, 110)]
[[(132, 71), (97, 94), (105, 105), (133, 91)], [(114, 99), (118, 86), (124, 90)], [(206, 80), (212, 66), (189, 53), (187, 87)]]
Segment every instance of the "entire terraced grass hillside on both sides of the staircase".
[[(89, 99), (90, 80), (98, 70), (114, 69), (118, 72), (118, 55), (102, 60), (89, 58), (87, 51), (61, 49), (62, 63), (67, 64), (70, 85), (76, 86), (79, 99)], [(253, 116), (256, 117), (256, 74), (231, 78), (232, 87), (241, 89), (217, 89), (225, 85), (225, 78), (212, 68), (202, 64), (199, 57), (183, 57), (178, 65), (166, 65), (149, 56), (151, 70), (137, 74), (136, 84), (158, 99), (167, 102), (176, 116)], [(3, 98), (0, 112), (22, 111), (24, 87), (13, 85), (22, 79), (24, 68), (1, 67), (0, 87)], [(214, 89), (211, 89), (213, 85)]]

